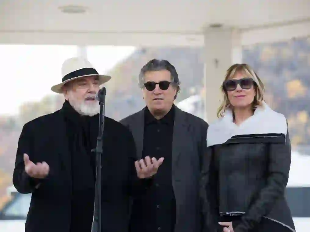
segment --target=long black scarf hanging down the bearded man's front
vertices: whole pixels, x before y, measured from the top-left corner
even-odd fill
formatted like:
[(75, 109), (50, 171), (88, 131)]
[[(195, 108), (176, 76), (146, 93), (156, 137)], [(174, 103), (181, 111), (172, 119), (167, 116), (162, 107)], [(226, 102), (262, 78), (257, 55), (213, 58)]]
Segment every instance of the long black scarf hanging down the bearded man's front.
[(98, 115), (82, 116), (64, 102), (64, 116), (71, 157), (72, 197), (70, 231), (91, 231), (95, 198), (95, 148)]

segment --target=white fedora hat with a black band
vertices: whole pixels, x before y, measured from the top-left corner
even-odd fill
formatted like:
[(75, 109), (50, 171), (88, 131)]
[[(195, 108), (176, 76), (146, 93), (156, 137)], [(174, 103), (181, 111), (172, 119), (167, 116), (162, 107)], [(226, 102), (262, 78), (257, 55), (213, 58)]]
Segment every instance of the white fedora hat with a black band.
[(99, 75), (97, 70), (91, 65), (91, 63), (80, 57), (69, 58), (64, 61), (62, 68), (62, 80), (60, 84), (52, 86), (51, 91), (56, 93), (62, 93), (62, 87), (69, 81), (84, 77), (84, 76), (98, 76), (99, 84), (104, 84), (111, 79), (107, 75)]

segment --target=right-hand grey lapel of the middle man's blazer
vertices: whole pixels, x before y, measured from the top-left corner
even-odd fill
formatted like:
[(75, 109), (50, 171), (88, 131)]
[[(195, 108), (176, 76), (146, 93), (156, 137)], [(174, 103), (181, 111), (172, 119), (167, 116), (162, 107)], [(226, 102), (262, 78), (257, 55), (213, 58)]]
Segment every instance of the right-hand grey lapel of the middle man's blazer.
[(179, 156), (183, 151), (182, 145), (186, 140), (186, 130), (188, 123), (186, 121), (186, 114), (175, 106), (175, 120), (173, 126), (172, 137), (172, 171), (178, 165)]

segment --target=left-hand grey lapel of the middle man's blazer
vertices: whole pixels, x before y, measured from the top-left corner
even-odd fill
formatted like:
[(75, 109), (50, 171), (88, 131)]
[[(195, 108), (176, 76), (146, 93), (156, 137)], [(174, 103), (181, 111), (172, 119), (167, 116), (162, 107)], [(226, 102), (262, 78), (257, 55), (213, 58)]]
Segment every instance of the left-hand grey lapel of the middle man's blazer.
[(138, 159), (141, 159), (144, 137), (144, 109), (136, 113), (136, 117), (134, 117), (134, 120), (131, 123), (131, 133), (135, 140), (137, 157)]

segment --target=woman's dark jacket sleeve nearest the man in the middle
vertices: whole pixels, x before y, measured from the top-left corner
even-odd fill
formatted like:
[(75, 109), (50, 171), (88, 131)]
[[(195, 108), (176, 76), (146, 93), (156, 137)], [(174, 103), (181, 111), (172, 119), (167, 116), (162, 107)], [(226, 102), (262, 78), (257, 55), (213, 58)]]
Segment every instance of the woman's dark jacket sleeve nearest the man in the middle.
[(214, 166), (213, 148), (206, 148), (202, 158), (199, 193), (203, 215), (202, 230), (203, 232), (216, 232), (219, 222), (218, 174)]

